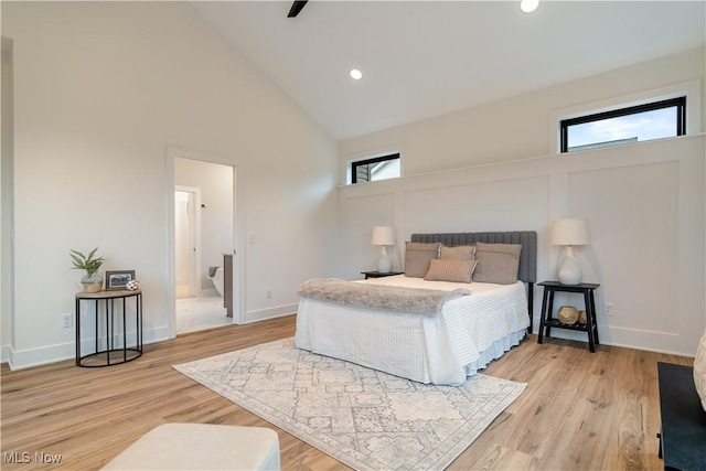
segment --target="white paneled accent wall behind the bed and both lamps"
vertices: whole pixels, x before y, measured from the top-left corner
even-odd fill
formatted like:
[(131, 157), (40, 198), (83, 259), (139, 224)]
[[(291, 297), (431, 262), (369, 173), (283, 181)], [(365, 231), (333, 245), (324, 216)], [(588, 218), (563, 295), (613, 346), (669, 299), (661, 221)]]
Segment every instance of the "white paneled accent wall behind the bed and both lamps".
[[(375, 269), (373, 225), (393, 224), (395, 270), (416, 232), (521, 229), (538, 233), (538, 277), (556, 279), (565, 248), (550, 244), (549, 223), (586, 217), (591, 244), (575, 251), (584, 280), (601, 285), (602, 343), (694, 355), (706, 323), (704, 160), (700, 135), (343, 186), (345, 274), (360, 279)], [(563, 304), (581, 308), (582, 300), (557, 295), (555, 306)]]

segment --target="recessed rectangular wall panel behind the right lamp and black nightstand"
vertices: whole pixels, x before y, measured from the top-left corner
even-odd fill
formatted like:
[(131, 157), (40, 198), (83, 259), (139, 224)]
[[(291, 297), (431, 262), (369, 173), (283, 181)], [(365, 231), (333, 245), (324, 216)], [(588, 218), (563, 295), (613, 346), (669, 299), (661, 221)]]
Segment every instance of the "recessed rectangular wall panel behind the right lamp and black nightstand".
[(606, 340), (612, 331), (634, 335), (633, 320), (623, 312), (640, 318), (639, 335), (651, 342), (678, 335), (678, 170), (671, 161), (568, 175), (570, 211), (591, 225), (588, 268), (605, 285), (602, 297), (614, 312), (603, 319), (611, 328)]

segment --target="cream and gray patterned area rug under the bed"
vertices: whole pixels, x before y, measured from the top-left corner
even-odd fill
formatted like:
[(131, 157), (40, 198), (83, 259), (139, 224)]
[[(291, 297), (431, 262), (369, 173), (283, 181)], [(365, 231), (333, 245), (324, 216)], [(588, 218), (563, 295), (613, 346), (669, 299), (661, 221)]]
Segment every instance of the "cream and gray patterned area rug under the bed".
[(482, 374), (434, 386), (264, 343), (173, 366), (357, 470), (440, 470), (526, 387)]

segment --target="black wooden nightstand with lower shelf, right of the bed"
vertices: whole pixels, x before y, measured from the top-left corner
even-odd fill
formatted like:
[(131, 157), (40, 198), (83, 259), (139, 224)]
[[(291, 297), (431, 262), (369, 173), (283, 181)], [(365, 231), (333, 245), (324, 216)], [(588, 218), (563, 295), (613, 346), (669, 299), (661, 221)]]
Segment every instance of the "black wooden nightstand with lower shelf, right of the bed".
[[(588, 333), (588, 350), (590, 350), (591, 353), (595, 353), (596, 345), (599, 344), (599, 341), (598, 325), (596, 325), (596, 300), (593, 298), (593, 290), (600, 285), (561, 285), (558, 281), (542, 281), (541, 283), (538, 283), (538, 286), (544, 287), (544, 297), (542, 298), (539, 336), (537, 339), (537, 343), (542, 343), (542, 341), (544, 340), (545, 329), (547, 336), (549, 336), (552, 328), (582, 331)], [(556, 291), (584, 293), (584, 304), (586, 306), (586, 324), (581, 324), (578, 322), (573, 324), (563, 324), (558, 319), (552, 317), (552, 313), (554, 312), (554, 293)]]

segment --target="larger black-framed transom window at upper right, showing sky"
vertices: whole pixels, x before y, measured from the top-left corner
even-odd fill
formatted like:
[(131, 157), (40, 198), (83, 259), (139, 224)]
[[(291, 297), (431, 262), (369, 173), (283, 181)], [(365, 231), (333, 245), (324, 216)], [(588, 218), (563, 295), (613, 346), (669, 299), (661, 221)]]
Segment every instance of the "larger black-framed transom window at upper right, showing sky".
[(686, 97), (564, 119), (559, 127), (561, 152), (684, 136)]

